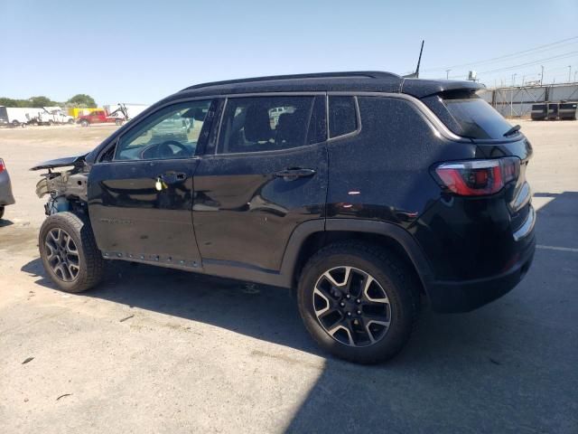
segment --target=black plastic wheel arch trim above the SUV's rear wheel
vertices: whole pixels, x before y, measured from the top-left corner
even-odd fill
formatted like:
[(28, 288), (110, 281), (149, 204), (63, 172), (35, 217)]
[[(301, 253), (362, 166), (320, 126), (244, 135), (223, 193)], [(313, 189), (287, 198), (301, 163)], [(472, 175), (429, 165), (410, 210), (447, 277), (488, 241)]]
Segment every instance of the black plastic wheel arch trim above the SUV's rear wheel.
[(359, 219), (326, 219), (303, 222), (293, 232), (284, 251), (281, 275), (286, 287), (296, 288), (301, 270), (312, 255), (336, 241), (367, 241), (394, 251), (415, 271), (425, 291), (433, 272), (423, 250), (405, 229), (393, 223)]

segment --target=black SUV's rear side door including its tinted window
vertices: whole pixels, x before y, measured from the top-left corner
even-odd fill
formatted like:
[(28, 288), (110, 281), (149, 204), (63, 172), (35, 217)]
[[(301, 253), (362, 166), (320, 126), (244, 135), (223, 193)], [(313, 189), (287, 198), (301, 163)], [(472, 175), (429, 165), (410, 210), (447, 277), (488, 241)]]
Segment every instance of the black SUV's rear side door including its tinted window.
[(194, 180), (193, 222), (209, 272), (278, 270), (294, 229), (324, 218), (325, 119), (325, 95), (228, 98)]

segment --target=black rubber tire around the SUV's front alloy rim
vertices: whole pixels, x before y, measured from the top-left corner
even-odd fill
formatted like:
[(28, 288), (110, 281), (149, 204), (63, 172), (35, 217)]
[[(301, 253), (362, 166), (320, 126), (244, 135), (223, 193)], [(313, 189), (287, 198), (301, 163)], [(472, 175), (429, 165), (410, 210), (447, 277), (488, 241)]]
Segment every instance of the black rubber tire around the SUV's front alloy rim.
[[(75, 263), (78, 262), (78, 267), (73, 265), (78, 269), (77, 274), (72, 276), (70, 273), (68, 280), (65, 279), (66, 277), (63, 278), (62, 271), (59, 275), (59, 271), (53, 269), (54, 263), (49, 259), (51, 248), (48, 244), (52, 242), (49, 237), (51, 237), (51, 233), (58, 232), (58, 230), (70, 236), (78, 252), (78, 259), (75, 259)], [(80, 219), (72, 212), (58, 212), (49, 216), (42, 223), (38, 246), (44, 269), (52, 281), (63, 291), (73, 293), (86, 291), (96, 286), (103, 276), (105, 259), (102, 259), (100, 250), (98, 250), (90, 223)], [(56, 263), (60, 262), (61, 259), (58, 259)]]

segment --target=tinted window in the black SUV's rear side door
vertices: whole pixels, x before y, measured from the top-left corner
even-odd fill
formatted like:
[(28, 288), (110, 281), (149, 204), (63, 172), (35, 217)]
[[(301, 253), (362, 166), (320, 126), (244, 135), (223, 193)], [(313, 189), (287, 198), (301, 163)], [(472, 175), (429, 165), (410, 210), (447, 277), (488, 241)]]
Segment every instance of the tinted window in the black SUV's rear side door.
[(312, 116), (319, 107), (314, 97), (230, 98), (221, 123), (218, 152), (274, 151), (314, 143), (323, 135), (318, 119), (324, 117)]

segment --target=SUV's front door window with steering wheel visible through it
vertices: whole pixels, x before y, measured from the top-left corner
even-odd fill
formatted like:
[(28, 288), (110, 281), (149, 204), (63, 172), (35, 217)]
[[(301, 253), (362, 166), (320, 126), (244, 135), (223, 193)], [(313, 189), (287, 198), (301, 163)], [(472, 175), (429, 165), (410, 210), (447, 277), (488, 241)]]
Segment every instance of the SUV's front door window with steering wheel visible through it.
[(159, 110), (120, 137), (115, 159), (158, 160), (194, 156), (203, 137), (201, 132), (210, 103), (210, 99), (195, 100)]

